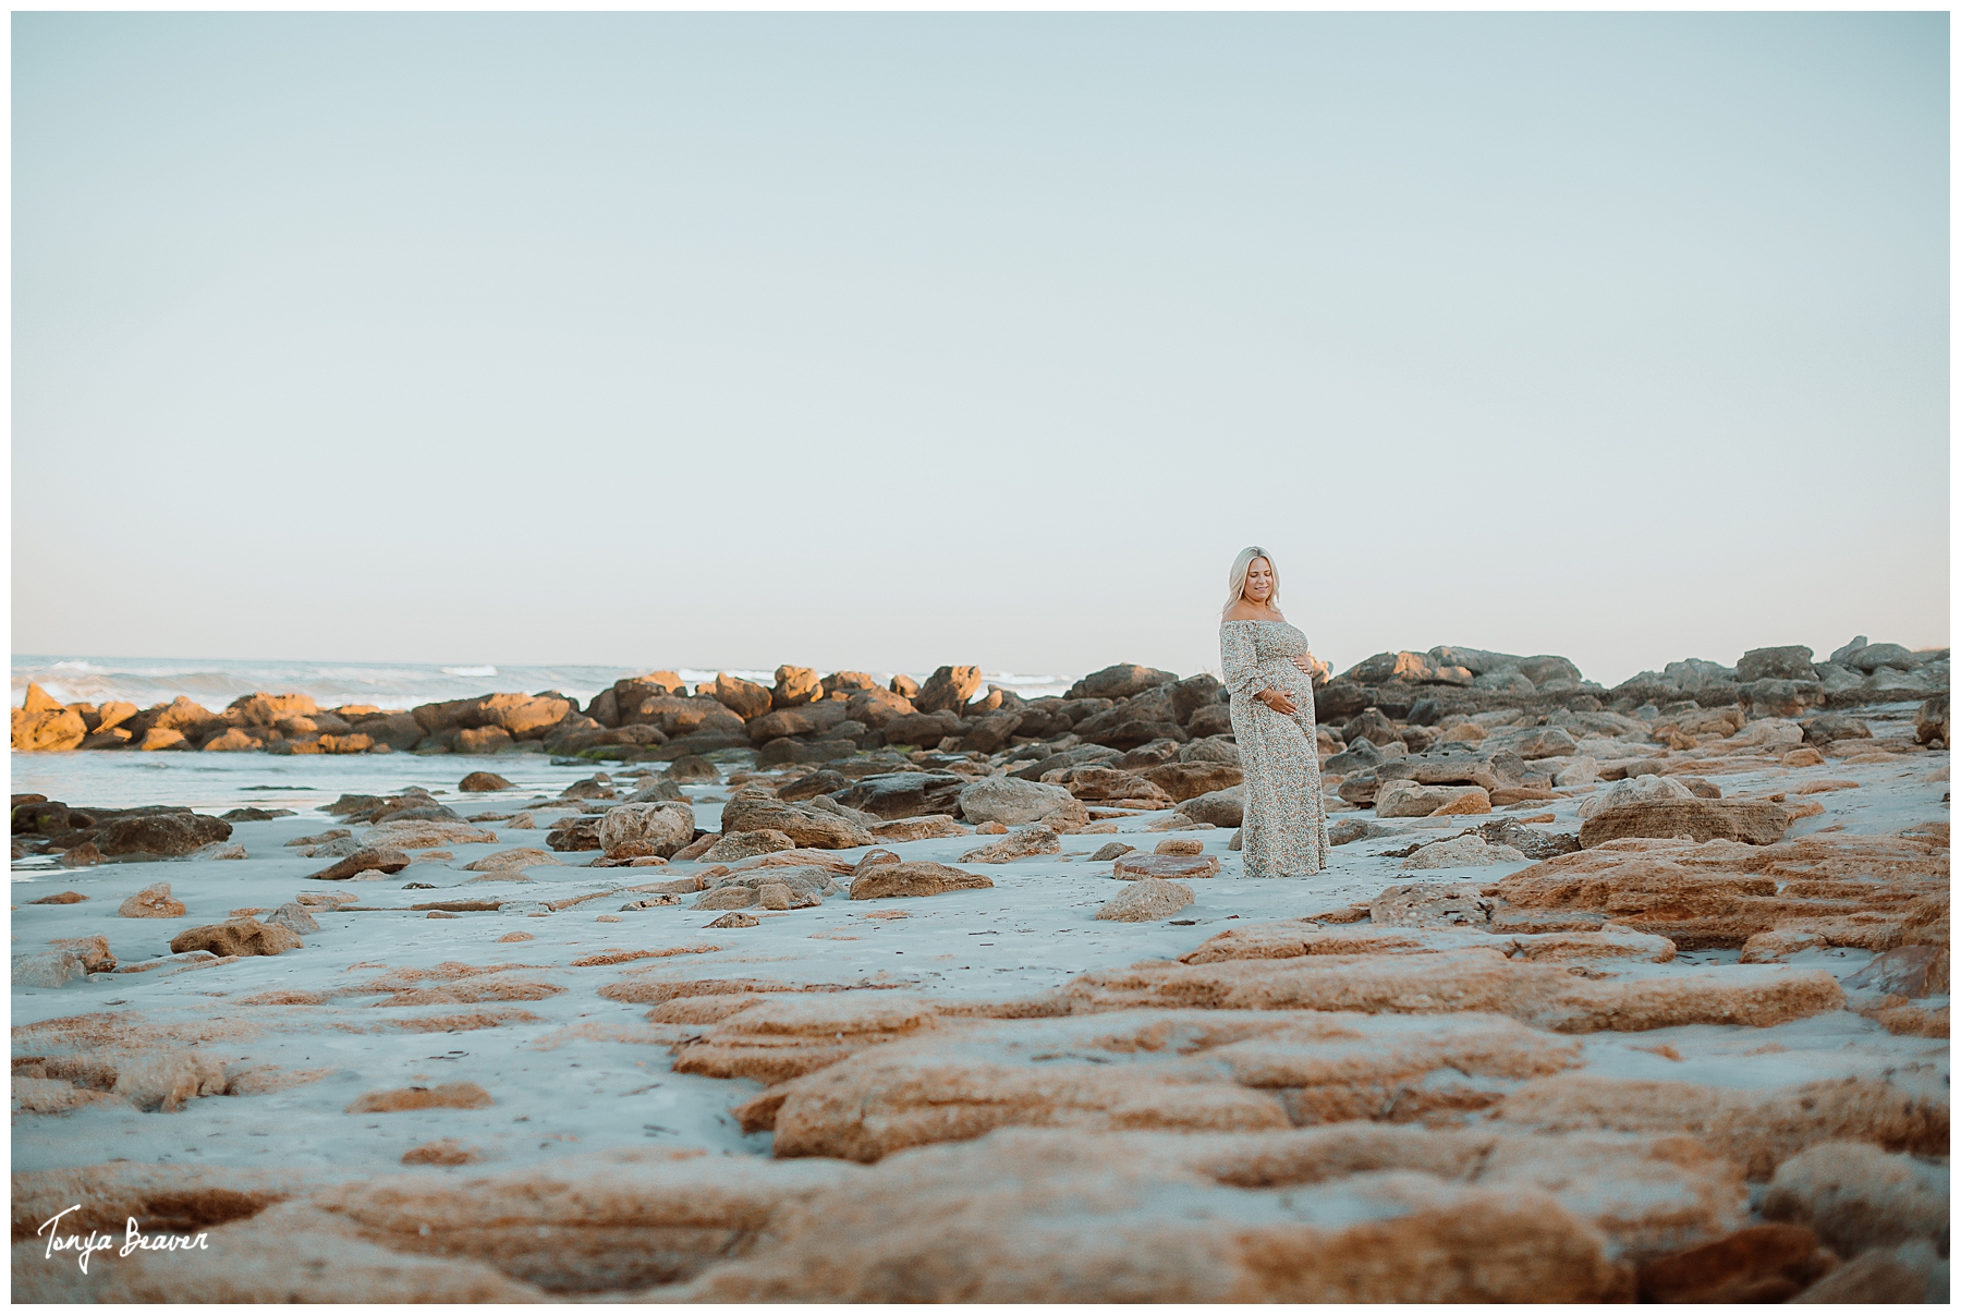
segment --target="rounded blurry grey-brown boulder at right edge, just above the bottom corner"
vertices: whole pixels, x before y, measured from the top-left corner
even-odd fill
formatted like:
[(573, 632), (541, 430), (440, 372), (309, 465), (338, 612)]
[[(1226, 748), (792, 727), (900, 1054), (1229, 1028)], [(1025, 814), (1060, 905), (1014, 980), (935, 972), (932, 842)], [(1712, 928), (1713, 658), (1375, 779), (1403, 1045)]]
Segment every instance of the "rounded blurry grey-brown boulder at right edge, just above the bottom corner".
[(1777, 1166), (1763, 1217), (1810, 1229), (1843, 1258), (1947, 1241), (1947, 1174), (1908, 1154), (1830, 1141)]

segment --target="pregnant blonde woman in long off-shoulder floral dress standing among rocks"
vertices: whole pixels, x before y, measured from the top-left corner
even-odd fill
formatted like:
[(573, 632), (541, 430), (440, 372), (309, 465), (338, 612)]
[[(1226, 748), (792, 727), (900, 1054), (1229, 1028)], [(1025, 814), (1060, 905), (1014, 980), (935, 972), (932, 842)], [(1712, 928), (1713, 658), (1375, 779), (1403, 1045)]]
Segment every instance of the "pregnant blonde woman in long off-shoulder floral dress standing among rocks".
[(1328, 866), (1328, 811), (1314, 753), (1314, 658), (1275, 606), (1281, 576), (1267, 549), (1233, 559), (1220, 621), (1220, 670), (1245, 768), (1247, 876), (1310, 876)]

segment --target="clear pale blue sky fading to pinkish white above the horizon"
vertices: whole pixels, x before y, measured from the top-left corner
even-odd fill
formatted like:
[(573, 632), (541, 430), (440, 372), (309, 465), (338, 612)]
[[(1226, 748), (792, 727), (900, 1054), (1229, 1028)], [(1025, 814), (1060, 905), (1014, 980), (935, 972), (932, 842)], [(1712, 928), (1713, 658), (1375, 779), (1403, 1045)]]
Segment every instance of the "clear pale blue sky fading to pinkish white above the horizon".
[(14, 653), (1947, 643), (1945, 14), (16, 14)]

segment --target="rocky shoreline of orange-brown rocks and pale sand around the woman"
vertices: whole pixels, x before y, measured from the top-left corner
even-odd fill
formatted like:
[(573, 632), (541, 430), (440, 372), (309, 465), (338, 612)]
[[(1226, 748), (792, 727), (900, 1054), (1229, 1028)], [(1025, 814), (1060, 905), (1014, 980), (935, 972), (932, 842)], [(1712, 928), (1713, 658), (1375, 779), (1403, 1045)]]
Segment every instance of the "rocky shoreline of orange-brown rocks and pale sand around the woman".
[(16, 709), (498, 753), (14, 798), (16, 1297), (1945, 1301), (1945, 651), (1324, 672), (1316, 880), (1212, 676), (894, 684)]

